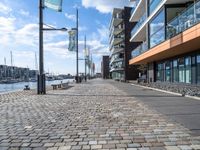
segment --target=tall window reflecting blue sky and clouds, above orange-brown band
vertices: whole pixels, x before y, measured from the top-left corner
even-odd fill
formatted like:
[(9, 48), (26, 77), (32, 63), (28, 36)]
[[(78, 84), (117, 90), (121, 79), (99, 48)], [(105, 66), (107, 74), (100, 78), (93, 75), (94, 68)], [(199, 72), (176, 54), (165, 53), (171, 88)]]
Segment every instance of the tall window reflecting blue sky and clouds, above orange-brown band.
[(150, 22), (150, 48), (165, 40), (164, 9)]

